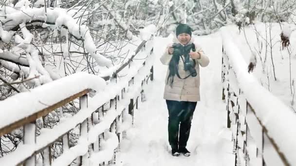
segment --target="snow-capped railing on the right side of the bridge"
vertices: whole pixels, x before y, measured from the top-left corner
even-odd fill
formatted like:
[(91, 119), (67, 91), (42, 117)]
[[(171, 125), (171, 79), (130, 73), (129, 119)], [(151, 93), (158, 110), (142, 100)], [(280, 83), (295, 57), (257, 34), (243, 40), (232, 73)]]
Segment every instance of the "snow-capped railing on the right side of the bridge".
[(296, 166), (296, 115), (257, 79), (222, 28), (222, 99), (234, 140), (235, 166)]

